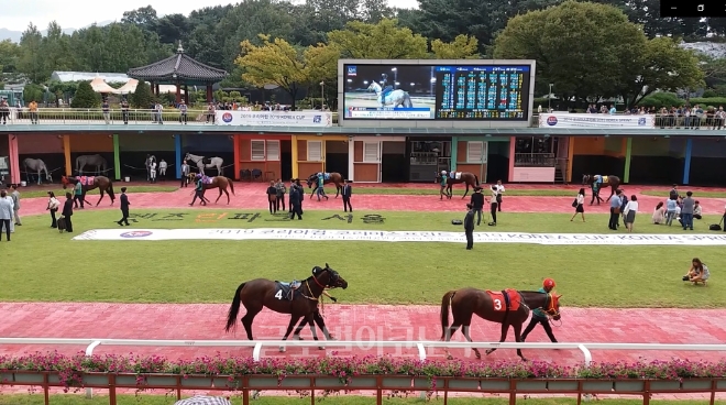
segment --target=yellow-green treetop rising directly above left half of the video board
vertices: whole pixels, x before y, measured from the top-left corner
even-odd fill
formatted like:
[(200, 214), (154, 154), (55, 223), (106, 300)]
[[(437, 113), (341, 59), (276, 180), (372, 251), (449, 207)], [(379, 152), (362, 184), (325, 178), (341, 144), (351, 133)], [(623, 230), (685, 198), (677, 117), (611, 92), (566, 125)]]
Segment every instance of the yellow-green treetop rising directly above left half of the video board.
[(328, 42), (342, 56), (354, 59), (418, 59), (428, 57), (428, 42), (398, 20), (384, 19), (377, 24), (349, 22), (345, 30), (328, 34)]

